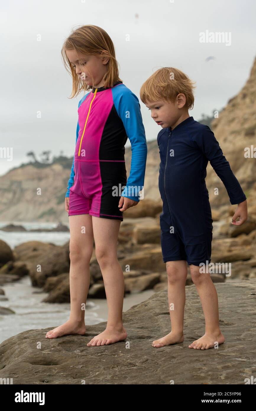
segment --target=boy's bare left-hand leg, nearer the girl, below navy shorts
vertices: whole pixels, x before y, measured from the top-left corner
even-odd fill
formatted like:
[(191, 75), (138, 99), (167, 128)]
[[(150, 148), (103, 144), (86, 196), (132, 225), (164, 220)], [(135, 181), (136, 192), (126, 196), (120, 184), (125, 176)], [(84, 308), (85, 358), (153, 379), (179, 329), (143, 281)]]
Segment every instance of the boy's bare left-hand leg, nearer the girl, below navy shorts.
[(168, 301), (171, 317), (171, 332), (165, 337), (152, 342), (153, 347), (178, 344), (184, 341), (183, 322), (185, 308), (185, 284), (187, 278), (187, 261), (167, 261)]

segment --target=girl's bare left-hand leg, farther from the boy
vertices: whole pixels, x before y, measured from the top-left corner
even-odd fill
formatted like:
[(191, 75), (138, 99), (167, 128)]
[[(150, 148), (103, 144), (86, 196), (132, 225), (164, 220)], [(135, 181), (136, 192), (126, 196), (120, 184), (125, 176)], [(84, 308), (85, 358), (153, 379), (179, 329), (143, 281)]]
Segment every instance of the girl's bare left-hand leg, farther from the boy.
[(46, 338), (85, 333), (85, 304), (90, 285), (90, 259), (93, 249), (92, 216), (70, 215), (70, 316), (61, 326), (46, 333)]

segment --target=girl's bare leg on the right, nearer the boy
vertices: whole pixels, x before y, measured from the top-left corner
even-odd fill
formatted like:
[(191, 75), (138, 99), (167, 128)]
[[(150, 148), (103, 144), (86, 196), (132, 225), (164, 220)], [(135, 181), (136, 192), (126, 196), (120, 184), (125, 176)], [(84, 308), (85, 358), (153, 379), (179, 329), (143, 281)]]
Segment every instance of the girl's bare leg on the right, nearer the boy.
[(92, 216), (95, 254), (101, 268), (108, 303), (106, 330), (88, 342), (88, 346), (100, 346), (122, 341), (127, 332), (122, 324), (122, 308), (125, 281), (117, 258), (117, 240), (121, 221)]

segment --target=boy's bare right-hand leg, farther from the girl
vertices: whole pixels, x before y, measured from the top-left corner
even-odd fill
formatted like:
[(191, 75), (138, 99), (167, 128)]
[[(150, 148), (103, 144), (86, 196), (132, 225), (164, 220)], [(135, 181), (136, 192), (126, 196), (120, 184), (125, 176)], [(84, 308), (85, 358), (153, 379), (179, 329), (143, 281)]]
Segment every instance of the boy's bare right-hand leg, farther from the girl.
[(223, 344), (224, 335), (219, 329), (219, 308), (216, 288), (208, 272), (199, 272), (200, 267), (190, 265), (191, 278), (198, 291), (203, 313), (205, 316), (205, 334), (189, 345), (189, 348), (208, 349), (213, 348), (216, 342)]

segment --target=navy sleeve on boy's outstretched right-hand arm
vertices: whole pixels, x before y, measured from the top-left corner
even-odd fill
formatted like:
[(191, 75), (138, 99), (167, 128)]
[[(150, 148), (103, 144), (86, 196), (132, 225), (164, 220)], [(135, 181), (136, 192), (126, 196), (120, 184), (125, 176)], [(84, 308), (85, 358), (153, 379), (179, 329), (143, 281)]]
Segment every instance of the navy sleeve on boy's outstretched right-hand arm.
[(231, 204), (239, 204), (246, 200), (242, 187), (233, 174), (229, 162), (223, 155), (219, 143), (210, 127), (205, 125), (202, 130), (192, 136), (192, 141), (196, 143), (198, 148), (203, 151), (205, 157), (210, 161), (215, 173), (226, 187)]

